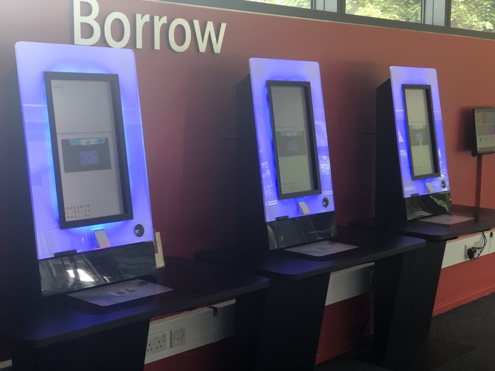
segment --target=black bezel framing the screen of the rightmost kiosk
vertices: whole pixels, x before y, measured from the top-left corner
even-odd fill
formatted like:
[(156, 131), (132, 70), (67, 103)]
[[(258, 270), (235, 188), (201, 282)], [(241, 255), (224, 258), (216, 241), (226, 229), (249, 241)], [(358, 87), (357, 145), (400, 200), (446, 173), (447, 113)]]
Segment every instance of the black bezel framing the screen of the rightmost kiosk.
[[(432, 150), (433, 158), (433, 173), (424, 175), (414, 175), (414, 163), (412, 159), (412, 146), (411, 146), (411, 132), (409, 126), (409, 118), (407, 116), (407, 99), (405, 98), (406, 89), (416, 89), (426, 91), (426, 105), (428, 110), (428, 126), (430, 129), (430, 147)], [(437, 143), (437, 131), (435, 128), (435, 116), (433, 114), (433, 97), (432, 97), (432, 87), (431, 85), (402, 85), (402, 98), (404, 101), (404, 114), (407, 129), (407, 145), (409, 147), (409, 161), (411, 164), (411, 176), (412, 180), (420, 180), (427, 178), (440, 177), (440, 160), (438, 157), (438, 143)]]

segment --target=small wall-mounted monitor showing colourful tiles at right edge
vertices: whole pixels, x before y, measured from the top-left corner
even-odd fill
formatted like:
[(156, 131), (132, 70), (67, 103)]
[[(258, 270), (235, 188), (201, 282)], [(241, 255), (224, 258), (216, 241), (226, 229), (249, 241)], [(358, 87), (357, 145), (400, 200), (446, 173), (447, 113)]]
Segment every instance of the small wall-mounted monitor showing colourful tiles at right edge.
[(474, 155), (495, 153), (495, 108), (475, 108), (476, 148)]

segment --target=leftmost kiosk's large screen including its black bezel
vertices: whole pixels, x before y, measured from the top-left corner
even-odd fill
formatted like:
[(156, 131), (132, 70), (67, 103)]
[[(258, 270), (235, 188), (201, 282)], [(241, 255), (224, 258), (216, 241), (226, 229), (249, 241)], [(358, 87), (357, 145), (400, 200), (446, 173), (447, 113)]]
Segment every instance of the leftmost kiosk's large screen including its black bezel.
[(132, 219), (117, 75), (46, 72), (60, 228)]

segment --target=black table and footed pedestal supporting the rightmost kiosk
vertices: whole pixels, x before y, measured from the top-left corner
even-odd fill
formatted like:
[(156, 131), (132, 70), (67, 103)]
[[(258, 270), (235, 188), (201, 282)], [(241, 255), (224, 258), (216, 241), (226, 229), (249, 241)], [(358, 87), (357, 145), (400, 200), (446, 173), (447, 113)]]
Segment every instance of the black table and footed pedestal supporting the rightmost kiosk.
[(378, 218), (350, 223), (427, 241), (421, 249), (375, 264), (374, 350), (378, 358), (373, 362), (399, 371), (429, 371), (474, 349), (428, 336), (446, 242), (495, 227), (495, 210), (452, 205), (452, 214), (473, 219), (453, 225)]

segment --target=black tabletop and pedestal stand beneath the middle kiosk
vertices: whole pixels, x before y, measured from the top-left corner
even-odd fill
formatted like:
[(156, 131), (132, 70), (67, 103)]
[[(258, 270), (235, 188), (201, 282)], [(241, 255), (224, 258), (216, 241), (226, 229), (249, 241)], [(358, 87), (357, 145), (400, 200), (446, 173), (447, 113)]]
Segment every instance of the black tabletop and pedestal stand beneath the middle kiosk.
[[(263, 294), (264, 303), (256, 298), (257, 304), (244, 304), (259, 313), (255, 329), (247, 329), (257, 345), (250, 355), (253, 366), (246, 370), (313, 370), (330, 274), (360, 264), (405, 259), (403, 257), (425, 243), (419, 238), (349, 228), (339, 227), (338, 232), (337, 241), (358, 248), (337, 253), (326, 261), (312, 261), (286, 251), (254, 254), (214, 249), (195, 254), (195, 259), (270, 279), (268, 290)], [(384, 263), (379, 267), (387, 269), (386, 266)], [(385, 285), (380, 292), (385, 293), (387, 287)], [(403, 289), (405, 287), (400, 287), (397, 291)]]

